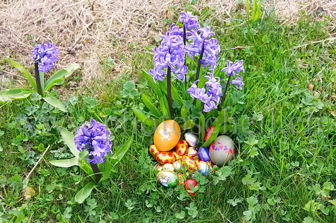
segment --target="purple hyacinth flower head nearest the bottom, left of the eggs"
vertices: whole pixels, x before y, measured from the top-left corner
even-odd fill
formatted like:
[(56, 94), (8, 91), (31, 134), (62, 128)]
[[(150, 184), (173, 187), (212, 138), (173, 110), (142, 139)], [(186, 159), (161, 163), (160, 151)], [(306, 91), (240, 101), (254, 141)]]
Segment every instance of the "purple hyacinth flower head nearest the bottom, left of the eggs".
[(93, 159), (85, 157), (88, 162), (102, 163), (106, 160), (107, 153), (112, 155), (111, 131), (106, 125), (91, 119), (91, 125), (86, 122), (77, 129), (75, 145), (77, 150), (88, 150), (89, 156), (93, 156)]

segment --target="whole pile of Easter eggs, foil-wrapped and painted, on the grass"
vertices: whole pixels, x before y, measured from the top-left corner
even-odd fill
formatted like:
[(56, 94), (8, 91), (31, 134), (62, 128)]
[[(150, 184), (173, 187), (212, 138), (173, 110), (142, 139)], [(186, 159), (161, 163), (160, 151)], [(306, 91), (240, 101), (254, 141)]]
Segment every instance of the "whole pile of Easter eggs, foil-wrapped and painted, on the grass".
[[(211, 135), (210, 130), (206, 139)], [(190, 190), (190, 184), (193, 187), (197, 185), (195, 179), (182, 180), (182, 173), (177, 173), (182, 165), (191, 172), (199, 171), (206, 176), (214, 164), (222, 166), (234, 158), (235, 145), (228, 136), (218, 136), (208, 150), (205, 147), (197, 149), (199, 139), (195, 135), (185, 133), (184, 140), (180, 140), (180, 135), (177, 122), (164, 121), (155, 130), (154, 145), (149, 147), (151, 156), (159, 163), (156, 166), (159, 171), (156, 177), (165, 187), (183, 184), (186, 190)], [(189, 194), (194, 196), (194, 193)]]

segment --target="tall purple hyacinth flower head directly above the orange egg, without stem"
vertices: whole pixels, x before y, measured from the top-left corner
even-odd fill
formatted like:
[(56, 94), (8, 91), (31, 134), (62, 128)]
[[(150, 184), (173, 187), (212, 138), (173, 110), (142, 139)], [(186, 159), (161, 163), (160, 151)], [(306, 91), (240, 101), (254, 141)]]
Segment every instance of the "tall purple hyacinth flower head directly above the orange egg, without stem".
[(162, 36), (160, 47), (154, 48), (154, 69), (150, 69), (149, 73), (153, 75), (153, 80), (164, 81), (164, 75), (167, 74), (167, 68), (176, 74), (176, 77), (182, 82), (185, 80), (185, 74), (188, 68), (184, 65), (184, 44), (182, 37), (179, 35), (172, 35), (167, 32)]

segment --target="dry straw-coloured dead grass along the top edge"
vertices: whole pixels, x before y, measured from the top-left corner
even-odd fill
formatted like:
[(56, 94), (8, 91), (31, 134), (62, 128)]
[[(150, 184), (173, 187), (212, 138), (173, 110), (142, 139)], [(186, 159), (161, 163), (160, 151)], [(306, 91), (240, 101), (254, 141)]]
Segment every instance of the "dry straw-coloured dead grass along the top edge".
[[(194, 7), (215, 8), (216, 18), (227, 18), (237, 8), (244, 10), (244, 2), (235, 0), (201, 0)], [(300, 10), (316, 15), (318, 9), (336, 19), (336, 2), (302, 0), (267, 0), (263, 7), (270, 9), (277, 3), (276, 12), (293, 21)], [(97, 79), (109, 80), (124, 70), (131, 70), (132, 51), (129, 44), (139, 43), (138, 50), (153, 42), (154, 35), (166, 31), (161, 20), (171, 5), (177, 10), (181, 1), (168, 0), (2, 0), (0, 2), (0, 56), (15, 54), (25, 66), (32, 66), (30, 50), (33, 41), (55, 42), (61, 51), (55, 69), (70, 63), (83, 67), (83, 82), (90, 85)], [(176, 10), (176, 11), (177, 11)], [(32, 34), (33, 39), (27, 38)], [(134, 51), (134, 50), (133, 50)], [(126, 60), (121, 60), (123, 55)], [(101, 60), (109, 56), (119, 65), (106, 74)], [(3, 75), (14, 71), (5, 67)], [(1, 71), (0, 71), (1, 72)], [(9, 73), (8, 73), (9, 72)], [(1, 73), (0, 73), (1, 75)]]

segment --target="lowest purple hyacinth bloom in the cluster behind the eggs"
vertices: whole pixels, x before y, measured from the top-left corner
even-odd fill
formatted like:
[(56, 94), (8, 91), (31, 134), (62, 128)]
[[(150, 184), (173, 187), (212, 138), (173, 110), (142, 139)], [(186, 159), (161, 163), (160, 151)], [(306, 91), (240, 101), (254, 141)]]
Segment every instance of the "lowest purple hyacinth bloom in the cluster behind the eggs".
[(204, 87), (198, 88), (197, 84), (200, 80), (196, 80), (195, 83), (187, 90), (187, 93), (190, 93), (190, 96), (193, 99), (197, 98), (202, 101), (203, 113), (217, 108), (222, 94), (219, 77), (214, 77), (213, 73), (210, 72), (208, 72), (208, 75), (204, 77), (208, 79), (208, 81), (205, 82)]

